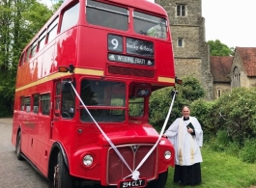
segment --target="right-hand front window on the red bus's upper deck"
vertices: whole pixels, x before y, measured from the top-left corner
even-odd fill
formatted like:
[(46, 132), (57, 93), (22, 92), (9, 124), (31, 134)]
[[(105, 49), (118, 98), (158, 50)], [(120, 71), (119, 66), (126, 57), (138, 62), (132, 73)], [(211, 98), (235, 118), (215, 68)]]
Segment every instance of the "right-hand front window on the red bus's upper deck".
[(162, 17), (157, 17), (147, 13), (133, 12), (136, 33), (151, 36), (158, 39), (166, 39), (167, 21)]

